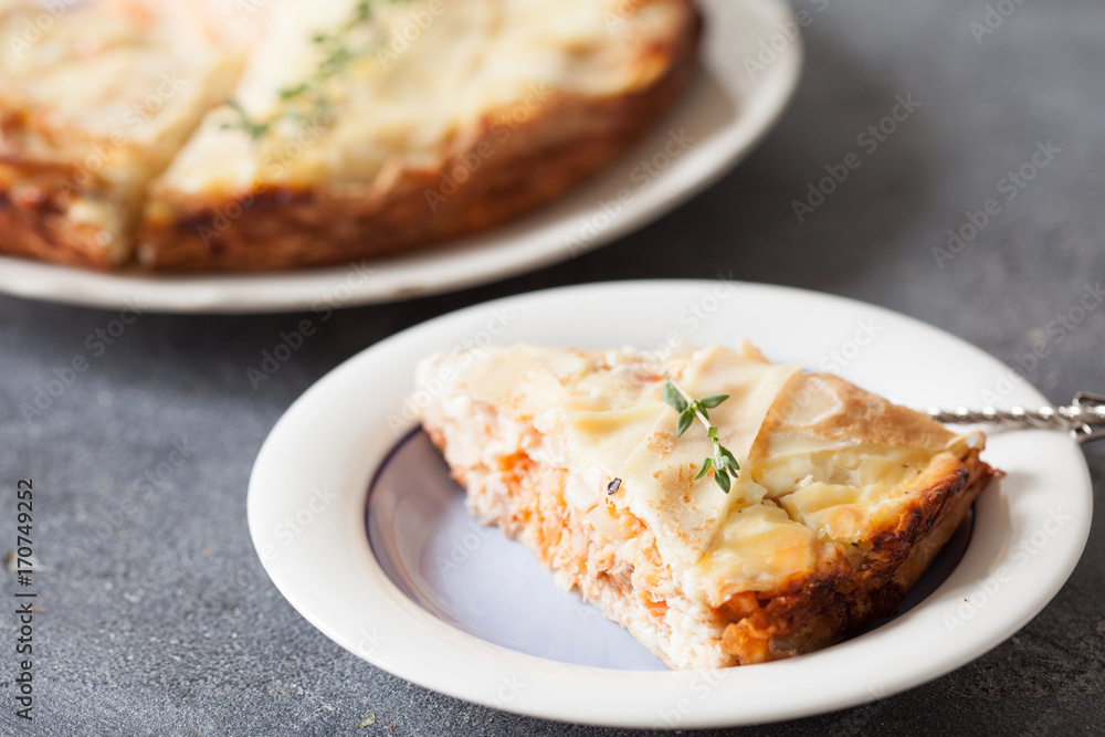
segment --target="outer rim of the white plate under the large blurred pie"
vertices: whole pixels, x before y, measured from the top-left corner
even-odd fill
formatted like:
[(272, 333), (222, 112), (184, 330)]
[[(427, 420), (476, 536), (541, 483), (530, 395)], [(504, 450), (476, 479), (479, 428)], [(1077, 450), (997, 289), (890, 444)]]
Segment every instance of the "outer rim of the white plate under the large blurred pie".
[[(716, 32), (716, 22), (709, 23), (711, 18), (722, 14), (717, 10), (719, 6), (732, 11), (739, 4), (739, 12), (745, 17), (762, 15), (765, 28), (774, 29), (777, 23), (793, 17), (793, 10), (785, 0), (697, 2), (707, 17), (699, 52), (699, 75), (711, 44), (719, 43), (718, 38), (723, 35)], [(733, 2), (733, 7), (727, 2)], [(575, 251), (565, 246), (561, 231), (570, 228), (575, 232), (579, 223), (598, 218), (604, 203), (600, 196), (582, 209), (548, 222), (540, 222), (541, 209), (538, 209), (484, 233), (450, 241), (441, 249), (278, 273), (147, 275), (133, 270), (95, 272), (0, 254), (0, 294), (102, 309), (137, 304), (150, 313), (262, 314), (315, 309), (319, 305), (340, 308), (397, 302), (516, 276), (607, 245), (674, 210), (725, 176), (758, 146), (781, 117), (797, 90), (802, 59), (799, 35), (788, 41), (758, 77), (743, 82), (747, 87), (739, 101), (744, 110), (708, 141), (709, 146), (693, 157), (687, 155), (673, 162), (652, 186), (635, 193), (634, 200), (625, 206), (624, 217), (614, 219)], [(685, 96), (664, 119), (677, 115), (686, 104)], [(581, 189), (602, 181), (603, 177), (623, 175), (619, 166), (625, 165), (611, 164), (548, 207), (556, 207)], [(366, 272), (372, 273), (366, 278)]]

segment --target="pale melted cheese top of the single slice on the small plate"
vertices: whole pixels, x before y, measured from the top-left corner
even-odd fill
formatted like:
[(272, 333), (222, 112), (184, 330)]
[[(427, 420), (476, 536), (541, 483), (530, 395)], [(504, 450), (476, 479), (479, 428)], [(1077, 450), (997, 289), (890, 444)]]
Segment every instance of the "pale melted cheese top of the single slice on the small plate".
[[(729, 494), (712, 473), (694, 480), (712, 444), (697, 423), (675, 438), (676, 413), (661, 393), (664, 371), (695, 396), (730, 394), (711, 410), (722, 443), (741, 466)], [(849, 556), (853, 543), (869, 540), (874, 526), (909, 503), (930, 464), (966, 452), (964, 439), (854, 388), (846, 399), (905, 413), (927, 435), (920, 445), (849, 444), (839, 422), (832, 432), (823, 430), (840, 420), (839, 411), (794, 410), (796, 388), (810, 381), (798, 371), (716, 346), (666, 361), (630, 349), (518, 346), (471, 360), (452, 393), (463, 397), (467, 409), (486, 403), (498, 414), (532, 422), (545, 444), (530, 443), (527, 452), (568, 470), (564, 495), (570, 508), (614, 539), (633, 529), (624, 518), (618, 522), (619, 514), (641, 520), (683, 592), (718, 607), (739, 591), (771, 590), (808, 573), (838, 548)], [(768, 418), (787, 408), (788, 430), (772, 429)], [(944, 448), (934, 449), (934, 439)], [(765, 448), (786, 450), (765, 454)], [(486, 452), (478, 436), (472, 438), (469, 462)], [(621, 484), (611, 495), (607, 487), (613, 478)]]

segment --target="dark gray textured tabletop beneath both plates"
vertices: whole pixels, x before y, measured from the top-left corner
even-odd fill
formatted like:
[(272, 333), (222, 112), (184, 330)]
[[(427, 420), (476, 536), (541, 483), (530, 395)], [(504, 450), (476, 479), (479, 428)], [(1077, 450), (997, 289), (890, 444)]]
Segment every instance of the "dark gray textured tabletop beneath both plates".
[[(0, 298), (0, 554), (11, 489), (33, 477), (39, 577), (36, 719), (12, 715), (2, 573), (0, 734), (592, 734), (425, 692), (330, 643), (288, 606), (250, 544), (245, 486), (284, 409), (385, 336), (485, 298), (578, 281), (655, 276), (791, 284), (866, 299), (962, 336), (1007, 362), (1105, 277), (1105, 8), (1020, 6), (976, 43), (979, 1), (819, 2), (806, 75), (778, 129), (741, 167), (611, 246), (509, 282), (350, 309), (254, 391), (245, 369), (293, 315), (143, 316), (103, 356), (110, 313)], [(735, 70), (734, 74), (743, 73)], [(791, 200), (897, 94), (922, 107), (799, 224)], [(940, 270), (948, 228), (998, 197), (1038, 140), (1055, 160)], [(1105, 390), (1105, 309), (1029, 378), (1052, 400)], [(91, 367), (33, 429), (15, 408), (74, 356)], [(158, 485), (173, 441), (191, 457)], [(1098, 502), (1105, 448), (1088, 451)], [(162, 472), (167, 466), (162, 466)], [(1105, 529), (1070, 582), (1014, 638), (949, 675), (854, 709), (748, 729), (782, 734), (1099, 734), (1105, 723)], [(369, 710), (378, 722), (354, 725)], [(593, 730), (594, 734), (620, 734)]]

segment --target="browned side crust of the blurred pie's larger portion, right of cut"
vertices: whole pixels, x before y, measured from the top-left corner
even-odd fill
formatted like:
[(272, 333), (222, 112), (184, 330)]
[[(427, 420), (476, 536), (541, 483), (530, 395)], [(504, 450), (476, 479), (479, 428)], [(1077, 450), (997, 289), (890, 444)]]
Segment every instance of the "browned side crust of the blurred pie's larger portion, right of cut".
[[(636, 141), (685, 86), (702, 21), (691, 0), (674, 1), (676, 22), (631, 60), (643, 82), (625, 94), (550, 91), (522, 122), (516, 104), (488, 109), (441, 143), (433, 166), (401, 164), (359, 188), (288, 181), (197, 193), (157, 185), (139, 260), (166, 271), (318, 266), (439, 243), (556, 199)], [(465, 165), (473, 160), (474, 170)], [(456, 170), (467, 179), (441, 197), (443, 177)]]

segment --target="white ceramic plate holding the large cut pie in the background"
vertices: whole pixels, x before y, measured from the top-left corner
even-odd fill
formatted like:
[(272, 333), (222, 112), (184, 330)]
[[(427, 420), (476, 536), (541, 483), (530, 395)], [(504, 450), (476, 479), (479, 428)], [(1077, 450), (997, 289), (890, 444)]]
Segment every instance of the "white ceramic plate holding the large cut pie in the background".
[[(137, 301), (155, 312), (316, 309), (461, 288), (608, 243), (725, 173), (770, 129), (794, 90), (801, 43), (781, 35), (780, 24), (793, 20), (783, 0), (699, 1), (707, 19), (702, 65), (676, 108), (596, 179), (502, 228), (438, 250), (355, 267), (278, 274), (98, 274), (0, 259), (0, 292), (93, 307)], [(761, 42), (775, 43), (776, 50), (768, 53), (776, 57), (765, 56), (766, 67), (750, 74), (745, 60), (757, 59)], [(673, 137), (676, 144), (670, 146)], [(654, 168), (640, 168), (653, 159)]]

